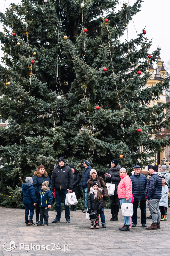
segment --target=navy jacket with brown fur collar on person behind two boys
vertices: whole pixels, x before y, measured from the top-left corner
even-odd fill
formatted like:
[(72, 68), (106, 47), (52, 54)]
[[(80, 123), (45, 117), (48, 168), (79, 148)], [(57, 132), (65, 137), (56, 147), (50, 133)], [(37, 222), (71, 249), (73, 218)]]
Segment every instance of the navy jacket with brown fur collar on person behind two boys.
[(44, 174), (41, 174), (39, 171), (35, 171), (34, 176), (33, 176), (33, 187), (35, 189), (36, 196), (38, 196), (38, 193), (41, 190), (42, 183), (44, 181), (48, 181), (49, 187), (51, 187), (51, 180), (50, 180), (47, 172), (45, 171)]

